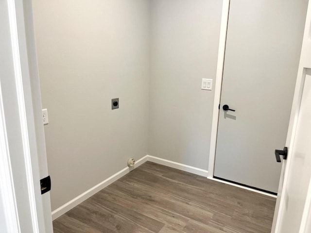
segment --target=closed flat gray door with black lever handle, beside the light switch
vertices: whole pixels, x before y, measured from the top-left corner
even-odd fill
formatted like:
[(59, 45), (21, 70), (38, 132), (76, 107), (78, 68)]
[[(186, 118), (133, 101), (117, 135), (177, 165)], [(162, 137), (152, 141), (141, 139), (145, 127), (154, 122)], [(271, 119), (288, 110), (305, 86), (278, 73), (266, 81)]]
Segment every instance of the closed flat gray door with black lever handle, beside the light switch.
[(277, 193), (307, 5), (230, 0), (215, 178)]

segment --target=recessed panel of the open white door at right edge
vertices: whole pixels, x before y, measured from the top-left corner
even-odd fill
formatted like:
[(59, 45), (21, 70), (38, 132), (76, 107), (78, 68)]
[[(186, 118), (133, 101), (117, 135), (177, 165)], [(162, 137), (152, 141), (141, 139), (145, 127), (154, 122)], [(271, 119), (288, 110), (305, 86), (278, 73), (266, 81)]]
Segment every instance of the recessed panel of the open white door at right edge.
[(311, 69), (306, 69), (303, 95), (284, 196), (280, 233), (298, 233), (311, 178)]

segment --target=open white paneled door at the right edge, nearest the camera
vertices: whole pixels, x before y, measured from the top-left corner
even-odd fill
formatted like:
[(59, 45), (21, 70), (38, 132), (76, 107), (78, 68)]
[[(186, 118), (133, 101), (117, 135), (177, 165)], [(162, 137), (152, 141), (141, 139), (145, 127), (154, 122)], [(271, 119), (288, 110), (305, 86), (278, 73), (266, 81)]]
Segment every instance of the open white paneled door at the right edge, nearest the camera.
[(311, 5), (305, 25), (272, 233), (311, 232)]

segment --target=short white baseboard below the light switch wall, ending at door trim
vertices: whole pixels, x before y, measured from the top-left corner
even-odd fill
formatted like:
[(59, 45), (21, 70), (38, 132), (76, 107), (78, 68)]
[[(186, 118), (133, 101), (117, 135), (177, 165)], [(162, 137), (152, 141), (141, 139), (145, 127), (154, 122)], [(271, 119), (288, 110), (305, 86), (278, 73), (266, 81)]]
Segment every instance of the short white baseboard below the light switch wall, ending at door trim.
[(196, 175), (200, 175), (200, 176), (205, 176), (207, 177), (207, 170), (201, 169), (201, 168), (197, 168), (194, 166), (189, 166), (189, 165), (185, 165), (185, 164), (180, 164), (180, 163), (176, 163), (167, 159), (162, 159), (162, 158), (158, 158), (152, 155), (147, 155), (148, 156), (148, 161), (150, 162), (154, 162), (156, 164), (161, 164), (164, 166), (169, 166), (169, 167), (173, 167), (179, 170), (183, 170), (183, 171), (188, 171), (190, 173), (196, 174)]

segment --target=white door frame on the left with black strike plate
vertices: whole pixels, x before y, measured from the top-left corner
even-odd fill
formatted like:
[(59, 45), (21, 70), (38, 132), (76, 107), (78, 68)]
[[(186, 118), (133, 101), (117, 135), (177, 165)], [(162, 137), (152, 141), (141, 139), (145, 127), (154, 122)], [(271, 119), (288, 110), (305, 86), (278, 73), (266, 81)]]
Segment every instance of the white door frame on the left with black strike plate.
[(44, 131), (40, 121), (32, 1), (6, 0), (3, 6), (6, 16), (0, 23), (6, 33), (1, 45), (6, 50), (0, 55), (7, 57), (7, 66), (0, 71), (3, 70), (0, 75), (0, 201), (6, 223), (3, 228), (9, 233), (52, 233), (50, 194), (41, 195), (40, 187), (40, 179), (46, 175), (42, 164), (46, 161), (42, 163), (40, 151)]

